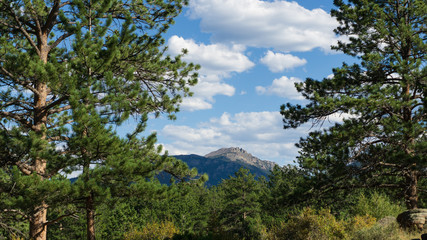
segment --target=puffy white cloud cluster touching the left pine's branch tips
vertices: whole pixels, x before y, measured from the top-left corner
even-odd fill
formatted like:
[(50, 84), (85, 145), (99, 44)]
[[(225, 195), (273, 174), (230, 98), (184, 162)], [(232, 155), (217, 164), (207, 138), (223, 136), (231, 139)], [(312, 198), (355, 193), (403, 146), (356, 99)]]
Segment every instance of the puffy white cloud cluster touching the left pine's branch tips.
[(241, 45), (205, 45), (175, 35), (169, 39), (168, 47), (170, 55), (178, 55), (182, 49), (187, 49), (188, 54), (183, 60), (202, 67), (199, 83), (191, 89), (194, 96), (184, 99), (181, 104), (181, 108), (187, 111), (212, 108), (214, 96), (219, 94), (233, 96), (235, 88), (224, 83), (223, 79), (230, 77), (233, 72), (241, 73), (255, 65), (244, 55), (245, 48)]

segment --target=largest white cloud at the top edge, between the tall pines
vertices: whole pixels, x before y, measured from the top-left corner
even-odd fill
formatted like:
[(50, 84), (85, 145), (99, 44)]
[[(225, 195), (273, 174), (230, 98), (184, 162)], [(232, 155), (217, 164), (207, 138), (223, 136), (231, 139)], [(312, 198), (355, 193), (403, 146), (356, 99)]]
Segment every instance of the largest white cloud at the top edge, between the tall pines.
[(189, 16), (214, 42), (239, 43), (276, 50), (329, 51), (337, 41), (338, 22), (322, 9), (308, 10), (296, 2), (261, 0), (192, 0)]

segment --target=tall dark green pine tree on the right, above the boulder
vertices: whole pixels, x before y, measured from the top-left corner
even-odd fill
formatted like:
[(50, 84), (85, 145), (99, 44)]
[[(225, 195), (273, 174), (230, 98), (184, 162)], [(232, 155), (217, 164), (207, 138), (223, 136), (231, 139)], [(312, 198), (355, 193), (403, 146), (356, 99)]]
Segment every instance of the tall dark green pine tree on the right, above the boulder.
[(396, 189), (407, 208), (418, 207), (427, 175), (427, 68), (424, 0), (335, 0), (333, 47), (359, 61), (333, 70), (331, 79), (307, 79), (297, 89), (306, 106), (281, 108), (285, 128), (331, 114), (342, 123), (302, 139), (298, 163), (322, 190)]

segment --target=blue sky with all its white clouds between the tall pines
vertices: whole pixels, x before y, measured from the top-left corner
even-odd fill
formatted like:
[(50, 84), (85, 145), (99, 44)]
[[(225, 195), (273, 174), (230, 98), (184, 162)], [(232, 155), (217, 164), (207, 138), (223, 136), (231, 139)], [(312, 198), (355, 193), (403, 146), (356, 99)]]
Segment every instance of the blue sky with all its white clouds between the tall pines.
[(283, 130), (280, 106), (305, 103), (294, 82), (323, 79), (354, 61), (330, 50), (338, 40), (331, 8), (332, 0), (190, 0), (165, 39), (170, 55), (186, 48), (184, 60), (202, 66), (199, 84), (176, 121), (151, 119), (148, 131), (172, 155), (242, 147), (264, 160), (293, 163), (295, 143), (318, 129)]

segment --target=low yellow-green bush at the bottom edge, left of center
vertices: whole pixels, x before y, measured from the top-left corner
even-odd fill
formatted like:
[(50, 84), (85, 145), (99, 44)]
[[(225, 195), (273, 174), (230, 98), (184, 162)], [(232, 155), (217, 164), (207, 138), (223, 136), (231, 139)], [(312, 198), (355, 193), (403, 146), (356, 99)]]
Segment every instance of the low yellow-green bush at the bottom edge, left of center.
[(132, 229), (125, 233), (126, 240), (163, 240), (171, 239), (175, 234), (179, 234), (179, 229), (172, 222), (149, 223), (142, 230)]

